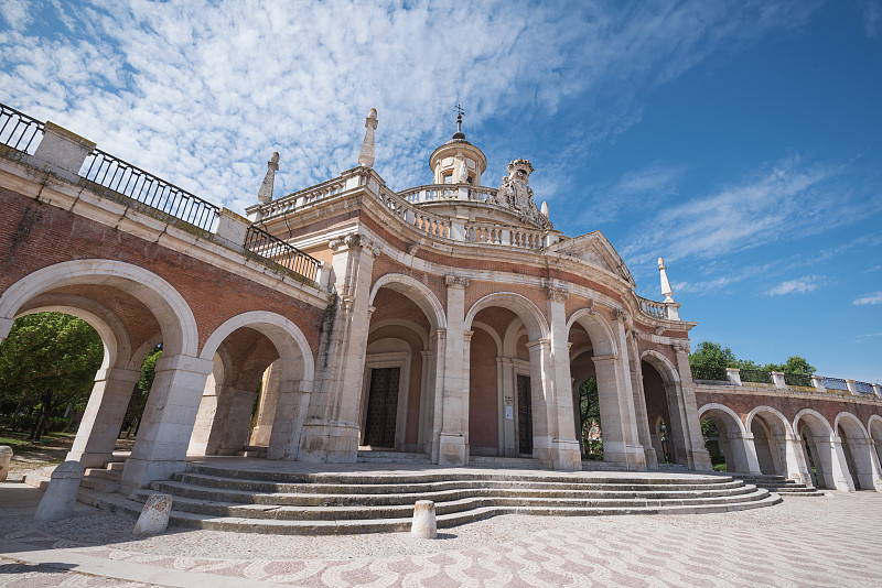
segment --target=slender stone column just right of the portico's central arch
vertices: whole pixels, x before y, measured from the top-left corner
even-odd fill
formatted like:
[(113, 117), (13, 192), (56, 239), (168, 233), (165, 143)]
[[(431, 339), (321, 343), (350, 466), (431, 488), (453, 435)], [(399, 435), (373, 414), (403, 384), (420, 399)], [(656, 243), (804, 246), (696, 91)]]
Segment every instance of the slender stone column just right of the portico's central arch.
[(551, 434), (551, 464), (555, 469), (581, 470), (582, 451), (576, 438), (573, 421), (572, 378), (570, 378), (569, 329), (564, 301), (569, 292), (562, 287), (546, 287), (548, 316), (551, 327), (551, 364), (548, 393), (545, 396)]

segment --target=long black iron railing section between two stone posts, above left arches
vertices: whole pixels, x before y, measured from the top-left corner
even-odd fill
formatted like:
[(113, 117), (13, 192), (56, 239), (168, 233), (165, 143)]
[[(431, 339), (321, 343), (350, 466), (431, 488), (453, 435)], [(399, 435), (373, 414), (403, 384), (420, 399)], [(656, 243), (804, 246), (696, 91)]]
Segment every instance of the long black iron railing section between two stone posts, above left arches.
[(219, 208), (100, 149), (83, 164), (80, 175), (166, 215), (212, 231)]

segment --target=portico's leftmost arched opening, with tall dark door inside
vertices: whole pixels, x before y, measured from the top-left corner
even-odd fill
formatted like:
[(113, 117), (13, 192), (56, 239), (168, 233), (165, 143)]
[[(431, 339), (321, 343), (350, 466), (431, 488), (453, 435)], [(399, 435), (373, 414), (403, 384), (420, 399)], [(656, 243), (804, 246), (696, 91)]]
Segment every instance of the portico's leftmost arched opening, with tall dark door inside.
[(387, 274), (372, 291), (359, 404), (362, 450), (429, 454), (434, 443), (438, 329), (434, 294), (412, 277)]

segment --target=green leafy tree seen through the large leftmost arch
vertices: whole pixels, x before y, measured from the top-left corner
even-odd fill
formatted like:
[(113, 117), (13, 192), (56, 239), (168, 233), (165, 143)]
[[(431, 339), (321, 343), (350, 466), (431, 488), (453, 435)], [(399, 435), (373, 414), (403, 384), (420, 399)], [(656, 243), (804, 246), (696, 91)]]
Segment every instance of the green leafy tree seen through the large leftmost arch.
[(17, 403), (14, 415), (37, 410), (32, 437), (40, 439), (53, 412), (85, 406), (103, 357), (101, 339), (86, 322), (62, 313), (23, 316), (0, 344), (0, 398)]

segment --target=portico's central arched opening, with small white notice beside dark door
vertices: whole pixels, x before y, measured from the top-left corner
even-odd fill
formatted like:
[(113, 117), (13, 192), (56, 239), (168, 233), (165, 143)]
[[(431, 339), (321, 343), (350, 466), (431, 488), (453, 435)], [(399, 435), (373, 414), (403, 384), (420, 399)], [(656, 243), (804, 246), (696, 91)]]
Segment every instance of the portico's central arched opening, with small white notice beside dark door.
[(541, 314), (521, 296), (493, 294), (471, 308), (465, 328), (470, 455), (550, 460)]

